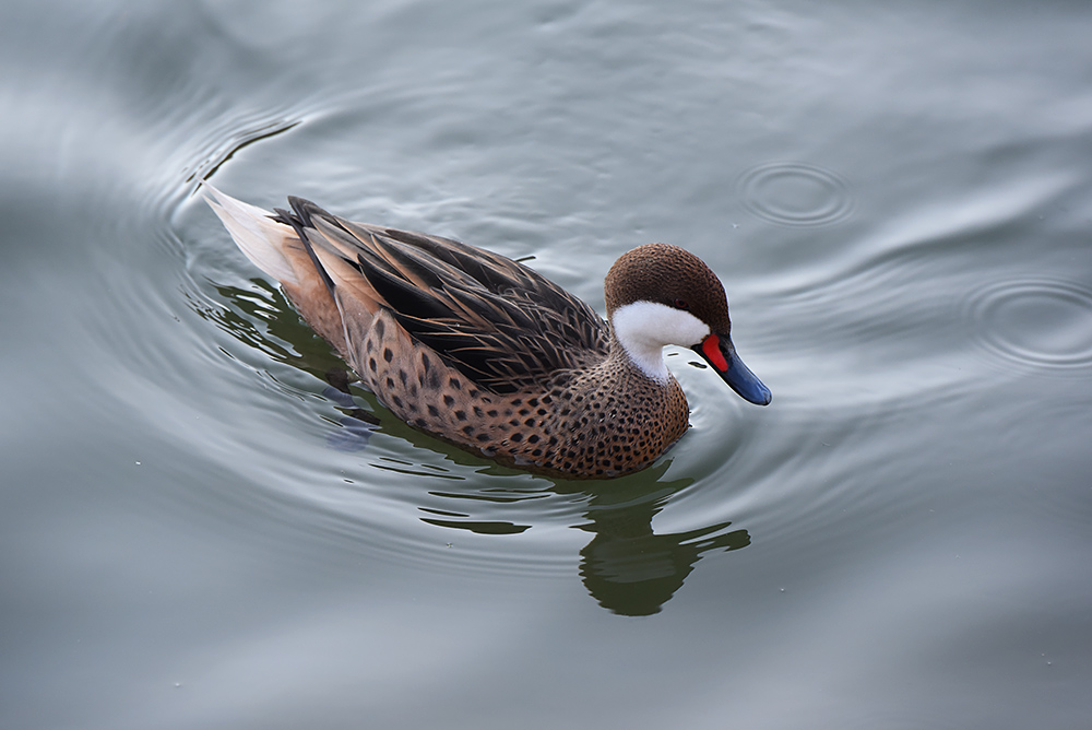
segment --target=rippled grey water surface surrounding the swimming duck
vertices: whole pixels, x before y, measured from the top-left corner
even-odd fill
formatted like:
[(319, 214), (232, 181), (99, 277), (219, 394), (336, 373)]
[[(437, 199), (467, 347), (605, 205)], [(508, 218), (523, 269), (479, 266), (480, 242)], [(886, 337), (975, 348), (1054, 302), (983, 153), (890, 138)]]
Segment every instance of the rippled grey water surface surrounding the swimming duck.
[[(9, 2), (0, 726), (1083, 728), (1092, 5)], [(721, 275), (757, 409), (569, 483), (339, 399), (209, 178), (602, 311)], [(366, 428), (354, 416), (378, 421)]]

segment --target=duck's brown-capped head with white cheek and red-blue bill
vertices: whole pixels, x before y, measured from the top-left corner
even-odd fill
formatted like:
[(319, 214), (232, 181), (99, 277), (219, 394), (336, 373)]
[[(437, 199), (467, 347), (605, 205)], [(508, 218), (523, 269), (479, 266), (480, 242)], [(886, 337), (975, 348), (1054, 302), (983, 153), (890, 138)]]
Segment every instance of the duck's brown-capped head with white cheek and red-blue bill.
[(604, 283), (607, 318), (630, 360), (649, 377), (667, 380), (663, 349), (691, 348), (744, 400), (770, 402), (770, 389), (732, 344), (724, 286), (693, 254), (648, 244), (622, 255)]

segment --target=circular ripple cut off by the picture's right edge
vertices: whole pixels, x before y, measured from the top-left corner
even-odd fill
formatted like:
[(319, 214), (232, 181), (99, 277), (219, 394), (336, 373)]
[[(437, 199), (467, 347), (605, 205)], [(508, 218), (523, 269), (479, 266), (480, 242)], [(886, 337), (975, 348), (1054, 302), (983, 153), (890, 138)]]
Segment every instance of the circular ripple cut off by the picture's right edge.
[(1092, 290), (1056, 279), (990, 284), (968, 298), (978, 344), (1007, 364), (1056, 372), (1092, 366)]

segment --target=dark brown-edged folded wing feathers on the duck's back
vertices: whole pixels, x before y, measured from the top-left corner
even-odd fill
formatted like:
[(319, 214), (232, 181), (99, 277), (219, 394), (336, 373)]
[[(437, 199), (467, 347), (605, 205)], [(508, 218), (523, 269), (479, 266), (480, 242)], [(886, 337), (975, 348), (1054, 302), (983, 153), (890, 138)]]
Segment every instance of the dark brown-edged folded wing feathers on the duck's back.
[[(602, 360), (609, 334), (586, 304), (509, 258), (449, 238), (353, 223), (299, 198), (278, 211), (305, 245), (353, 251), (367, 279), (416, 341), (482, 388), (515, 392)], [(288, 219), (295, 219), (288, 220)], [(316, 235), (318, 234), (318, 235)]]

